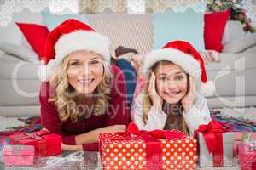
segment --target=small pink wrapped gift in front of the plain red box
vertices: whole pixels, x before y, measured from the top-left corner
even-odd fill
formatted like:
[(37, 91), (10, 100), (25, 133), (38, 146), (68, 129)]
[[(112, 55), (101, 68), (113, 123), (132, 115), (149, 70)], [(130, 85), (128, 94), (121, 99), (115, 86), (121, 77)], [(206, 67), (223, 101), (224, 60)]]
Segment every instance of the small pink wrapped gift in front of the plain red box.
[(5, 145), (3, 146), (3, 163), (5, 166), (32, 166), (34, 164), (34, 146)]

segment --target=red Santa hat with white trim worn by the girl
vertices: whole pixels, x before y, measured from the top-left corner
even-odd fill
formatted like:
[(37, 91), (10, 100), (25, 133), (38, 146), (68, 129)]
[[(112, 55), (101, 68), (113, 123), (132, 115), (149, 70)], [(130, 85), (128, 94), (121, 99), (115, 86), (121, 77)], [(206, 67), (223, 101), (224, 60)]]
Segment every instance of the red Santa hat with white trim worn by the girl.
[(189, 42), (168, 42), (163, 48), (147, 54), (143, 63), (143, 71), (148, 71), (160, 60), (172, 61), (186, 71), (195, 81), (195, 88), (201, 95), (211, 96), (214, 84), (207, 81), (207, 71), (204, 60)]

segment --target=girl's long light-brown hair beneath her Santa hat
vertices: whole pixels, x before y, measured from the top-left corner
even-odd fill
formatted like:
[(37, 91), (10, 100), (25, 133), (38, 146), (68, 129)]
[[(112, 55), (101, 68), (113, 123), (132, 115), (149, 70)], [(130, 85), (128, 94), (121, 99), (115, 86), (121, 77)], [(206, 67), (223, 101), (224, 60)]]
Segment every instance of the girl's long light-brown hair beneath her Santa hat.
[[(145, 92), (144, 92), (144, 97), (143, 97), (143, 122), (146, 123), (148, 121), (148, 111), (150, 110), (150, 108), (152, 107), (152, 100), (150, 99), (150, 96), (148, 94), (148, 88), (149, 88), (149, 83), (150, 83), (150, 76), (152, 72), (155, 72), (156, 69), (159, 68), (160, 65), (167, 65), (167, 64), (173, 64), (172, 61), (167, 61), (167, 60), (161, 60), (156, 62), (148, 71), (148, 76), (147, 76), (147, 84), (146, 84), (146, 88), (145, 88)], [(165, 102), (164, 102), (165, 103)], [(178, 106), (178, 108), (180, 108), (181, 105)], [(180, 111), (180, 110), (178, 110)], [(183, 131), (184, 133), (189, 134), (189, 128), (187, 127), (186, 122), (184, 121), (183, 116), (175, 116), (172, 114), (167, 114), (167, 121), (168, 122), (172, 122), (175, 119), (177, 119), (178, 122), (178, 130)], [(179, 114), (180, 115), (180, 114)]]

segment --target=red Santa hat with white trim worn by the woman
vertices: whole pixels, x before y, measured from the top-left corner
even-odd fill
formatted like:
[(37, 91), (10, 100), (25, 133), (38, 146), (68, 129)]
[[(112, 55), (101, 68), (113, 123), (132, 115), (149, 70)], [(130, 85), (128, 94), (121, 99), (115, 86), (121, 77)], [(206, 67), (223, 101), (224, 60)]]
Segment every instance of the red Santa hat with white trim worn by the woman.
[(110, 64), (109, 40), (79, 20), (69, 19), (49, 32), (44, 48), (44, 60), (38, 76), (47, 81), (52, 70), (73, 51), (89, 50), (100, 54)]

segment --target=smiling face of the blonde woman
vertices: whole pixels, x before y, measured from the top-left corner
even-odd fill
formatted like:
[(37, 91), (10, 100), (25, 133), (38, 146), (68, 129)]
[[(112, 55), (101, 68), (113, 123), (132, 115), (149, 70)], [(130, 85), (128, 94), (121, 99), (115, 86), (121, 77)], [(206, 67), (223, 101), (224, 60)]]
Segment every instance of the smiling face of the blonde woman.
[(67, 79), (80, 94), (92, 94), (102, 81), (104, 68), (102, 56), (80, 50), (67, 56)]

